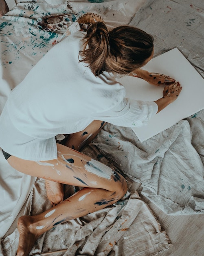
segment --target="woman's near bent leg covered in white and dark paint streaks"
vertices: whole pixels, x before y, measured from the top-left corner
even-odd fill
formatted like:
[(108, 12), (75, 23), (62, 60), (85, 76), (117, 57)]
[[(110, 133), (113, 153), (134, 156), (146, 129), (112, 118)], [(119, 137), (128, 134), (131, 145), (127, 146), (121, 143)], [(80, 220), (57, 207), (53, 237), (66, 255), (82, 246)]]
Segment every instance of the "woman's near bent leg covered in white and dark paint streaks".
[(37, 216), (21, 216), (17, 256), (27, 256), (35, 240), (60, 223), (84, 216), (117, 202), (127, 191), (123, 176), (76, 150), (57, 144), (58, 158), (28, 161), (11, 156), (8, 162), (22, 173), (64, 184), (83, 186), (70, 198)]

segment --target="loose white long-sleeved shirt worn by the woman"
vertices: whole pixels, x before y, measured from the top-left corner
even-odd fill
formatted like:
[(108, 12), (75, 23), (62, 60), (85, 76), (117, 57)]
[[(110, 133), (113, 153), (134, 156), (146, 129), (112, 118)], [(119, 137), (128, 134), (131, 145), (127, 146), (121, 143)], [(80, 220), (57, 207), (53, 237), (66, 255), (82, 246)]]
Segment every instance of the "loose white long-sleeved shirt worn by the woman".
[(113, 74), (94, 76), (79, 63), (84, 32), (55, 45), (11, 92), (0, 116), (0, 147), (28, 160), (57, 158), (55, 136), (86, 128), (93, 120), (142, 126), (156, 114), (154, 102), (125, 98)]

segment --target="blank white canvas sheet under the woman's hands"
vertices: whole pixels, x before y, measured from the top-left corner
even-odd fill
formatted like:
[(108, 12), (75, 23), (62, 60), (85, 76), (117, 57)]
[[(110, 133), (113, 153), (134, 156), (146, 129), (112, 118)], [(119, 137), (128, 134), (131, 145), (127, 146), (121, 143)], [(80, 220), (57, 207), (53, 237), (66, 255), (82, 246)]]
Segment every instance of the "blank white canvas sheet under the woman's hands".
[[(204, 108), (204, 79), (177, 48), (153, 58), (143, 69), (175, 78), (182, 91), (178, 99), (156, 114), (147, 126), (132, 128), (141, 142)], [(125, 86), (126, 97), (143, 101), (156, 101), (162, 97), (163, 85), (156, 87), (132, 76), (118, 81)]]

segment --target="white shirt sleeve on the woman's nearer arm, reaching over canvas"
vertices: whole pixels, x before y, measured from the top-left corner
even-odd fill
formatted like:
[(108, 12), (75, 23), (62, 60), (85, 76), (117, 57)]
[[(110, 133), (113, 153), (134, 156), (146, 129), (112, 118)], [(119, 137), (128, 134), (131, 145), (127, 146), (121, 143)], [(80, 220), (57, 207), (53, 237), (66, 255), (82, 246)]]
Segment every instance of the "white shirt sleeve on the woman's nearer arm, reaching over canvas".
[(158, 106), (154, 101), (124, 98), (117, 106), (109, 111), (97, 113), (94, 118), (117, 126), (141, 127), (147, 125), (157, 111)]

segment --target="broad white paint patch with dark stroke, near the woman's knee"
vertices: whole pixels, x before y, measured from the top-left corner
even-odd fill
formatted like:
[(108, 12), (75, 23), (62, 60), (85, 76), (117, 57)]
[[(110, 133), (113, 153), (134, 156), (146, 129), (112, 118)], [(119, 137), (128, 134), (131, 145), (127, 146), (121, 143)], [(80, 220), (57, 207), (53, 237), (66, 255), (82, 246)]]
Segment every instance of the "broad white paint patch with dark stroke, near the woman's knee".
[(105, 164), (102, 164), (94, 159), (91, 159), (86, 165), (85, 165), (86, 171), (93, 173), (95, 175), (98, 175), (99, 177), (109, 179), (112, 175), (112, 169)]

